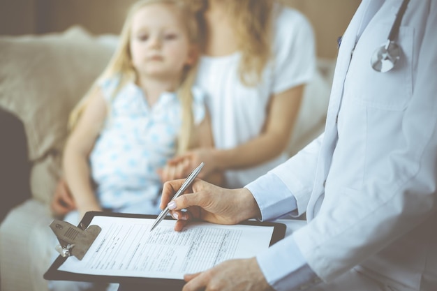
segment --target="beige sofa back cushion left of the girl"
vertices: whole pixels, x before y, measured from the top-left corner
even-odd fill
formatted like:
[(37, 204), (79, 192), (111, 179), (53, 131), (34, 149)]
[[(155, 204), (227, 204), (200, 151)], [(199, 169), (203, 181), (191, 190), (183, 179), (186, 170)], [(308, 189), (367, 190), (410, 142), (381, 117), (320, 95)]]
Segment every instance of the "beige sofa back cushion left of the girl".
[(38, 200), (50, 202), (68, 114), (113, 51), (81, 27), (43, 36), (0, 37), (0, 106), (24, 123), (34, 164), (31, 191)]

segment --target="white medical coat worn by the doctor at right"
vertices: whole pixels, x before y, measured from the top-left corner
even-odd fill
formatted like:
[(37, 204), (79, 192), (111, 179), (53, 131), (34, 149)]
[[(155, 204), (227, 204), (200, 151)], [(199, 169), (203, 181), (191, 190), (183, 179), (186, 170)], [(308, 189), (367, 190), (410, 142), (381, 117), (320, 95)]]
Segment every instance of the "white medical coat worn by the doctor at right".
[(437, 0), (410, 1), (393, 70), (370, 64), (401, 2), (362, 1), (339, 48), (325, 133), (272, 172), (306, 211), (292, 237), (324, 281), (358, 266), (435, 291)]

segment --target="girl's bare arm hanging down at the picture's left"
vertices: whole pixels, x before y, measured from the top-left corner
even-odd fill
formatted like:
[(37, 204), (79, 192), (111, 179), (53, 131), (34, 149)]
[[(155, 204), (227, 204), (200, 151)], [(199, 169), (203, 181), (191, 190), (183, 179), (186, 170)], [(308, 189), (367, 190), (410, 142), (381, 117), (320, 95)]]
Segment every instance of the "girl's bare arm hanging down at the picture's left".
[(107, 105), (100, 90), (94, 91), (67, 139), (64, 149), (64, 176), (77, 210), (82, 217), (87, 211), (100, 211), (91, 183), (89, 154), (105, 121)]

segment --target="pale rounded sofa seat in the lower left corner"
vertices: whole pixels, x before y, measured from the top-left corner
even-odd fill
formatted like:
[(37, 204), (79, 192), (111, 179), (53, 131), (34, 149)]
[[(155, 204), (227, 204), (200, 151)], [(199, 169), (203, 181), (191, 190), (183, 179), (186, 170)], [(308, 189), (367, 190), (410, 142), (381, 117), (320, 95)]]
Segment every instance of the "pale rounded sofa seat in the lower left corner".
[(48, 291), (43, 274), (56, 257), (57, 244), (52, 220), (47, 205), (35, 199), (8, 213), (0, 225), (0, 290)]

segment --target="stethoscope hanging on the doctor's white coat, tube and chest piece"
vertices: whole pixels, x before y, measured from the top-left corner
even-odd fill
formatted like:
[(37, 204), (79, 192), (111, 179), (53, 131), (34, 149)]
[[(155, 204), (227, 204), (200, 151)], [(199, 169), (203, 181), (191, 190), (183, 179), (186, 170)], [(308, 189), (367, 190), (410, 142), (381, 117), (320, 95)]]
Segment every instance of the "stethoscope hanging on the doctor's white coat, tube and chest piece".
[(394, 65), (401, 59), (401, 47), (394, 41), (398, 37), (399, 28), (401, 27), (401, 21), (403, 14), (408, 6), (410, 0), (403, 0), (401, 7), (396, 15), (396, 19), (393, 22), (392, 29), (388, 35), (387, 43), (378, 47), (373, 53), (370, 64), (373, 70), (377, 72), (385, 73), (394, 68)]

